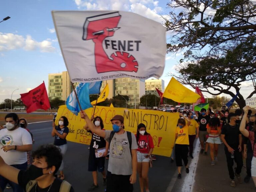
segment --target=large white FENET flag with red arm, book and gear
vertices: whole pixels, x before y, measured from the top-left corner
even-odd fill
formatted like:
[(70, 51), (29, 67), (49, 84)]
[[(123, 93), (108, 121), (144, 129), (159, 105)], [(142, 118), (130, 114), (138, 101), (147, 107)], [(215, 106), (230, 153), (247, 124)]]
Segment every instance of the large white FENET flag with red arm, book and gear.
[(52, 11), (52, 16), (72, 82), (163, 74), (161, 23), (126, 11)]

